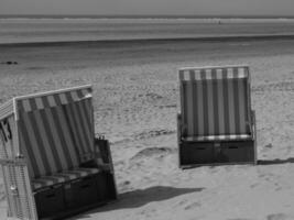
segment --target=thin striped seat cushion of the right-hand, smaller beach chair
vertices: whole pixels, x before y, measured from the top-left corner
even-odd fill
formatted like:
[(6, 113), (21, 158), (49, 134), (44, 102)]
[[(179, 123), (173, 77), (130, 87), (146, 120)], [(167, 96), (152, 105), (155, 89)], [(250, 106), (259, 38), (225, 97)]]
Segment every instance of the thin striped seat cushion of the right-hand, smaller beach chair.
[(249, 140), (251, 135), (239, 134), (239, 135), (210, 135), (210, 136), (187, 136), (184, 141), (232, 141), (232, 140)]

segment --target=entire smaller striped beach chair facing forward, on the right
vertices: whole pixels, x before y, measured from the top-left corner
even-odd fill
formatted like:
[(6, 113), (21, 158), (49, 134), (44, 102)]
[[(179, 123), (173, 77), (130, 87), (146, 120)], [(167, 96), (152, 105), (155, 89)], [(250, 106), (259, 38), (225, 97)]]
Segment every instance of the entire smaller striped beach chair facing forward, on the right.
[(179, 167), (257, 163), (248, 66), (179, 69)]

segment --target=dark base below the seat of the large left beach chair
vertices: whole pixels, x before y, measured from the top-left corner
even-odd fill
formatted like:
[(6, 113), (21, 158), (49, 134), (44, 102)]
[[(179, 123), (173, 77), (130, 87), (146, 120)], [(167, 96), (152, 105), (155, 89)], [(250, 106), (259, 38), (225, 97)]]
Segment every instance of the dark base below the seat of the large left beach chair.
[(116, 199), (113, 175), (101, 172), (35, 194), (39, 219), (64, 219)]

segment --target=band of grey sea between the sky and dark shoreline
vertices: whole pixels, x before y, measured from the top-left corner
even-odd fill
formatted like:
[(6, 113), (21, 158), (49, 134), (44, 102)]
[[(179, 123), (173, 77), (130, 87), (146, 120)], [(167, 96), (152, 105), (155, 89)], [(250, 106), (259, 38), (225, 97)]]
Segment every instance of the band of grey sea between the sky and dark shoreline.
[(294, 16), (0, 15), (0, 44), (294, 35)]

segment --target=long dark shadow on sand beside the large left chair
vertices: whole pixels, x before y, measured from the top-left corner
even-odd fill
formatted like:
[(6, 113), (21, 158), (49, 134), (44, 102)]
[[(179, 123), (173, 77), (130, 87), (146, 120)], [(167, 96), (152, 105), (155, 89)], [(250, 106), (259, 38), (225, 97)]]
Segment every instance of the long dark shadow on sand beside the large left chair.
[(115, 201), (113, 204), (90, 210), (88, 213), (81, 213), (77, 217), (70, 218), (70, 220), (87, 219), (90, 218), (89, 215), (98, 212), (139, 208), (152, 201), (167, 200), (184, 194), (202, 191), (203, 189), (204, 188), (174, 188), (168, 186), (155, 186), (146, 189), (138, 189), (119, 195), (118, 201)]

